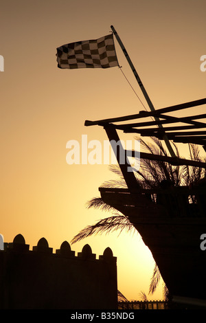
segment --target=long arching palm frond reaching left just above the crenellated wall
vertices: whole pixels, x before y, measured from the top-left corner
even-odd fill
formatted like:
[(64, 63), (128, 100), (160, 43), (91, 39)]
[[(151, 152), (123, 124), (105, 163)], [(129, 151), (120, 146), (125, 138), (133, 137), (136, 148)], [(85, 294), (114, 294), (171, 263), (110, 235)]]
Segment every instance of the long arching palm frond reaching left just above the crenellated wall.
[(119, 234), (122, 230), (126, 230), (127, 232), (137, 232), (135, 227), (130, 223), (130, 221), (124, 215), (113, 215), (109, 216), (106, 219), (102, 219), (95, 223), (94, 225), (88, 225), (84, 227), (76, 236), (71, 240), (71, 244), (77, 243), (92, 234), (102, 234), (102, 233), (110, 233), (119, 230)]

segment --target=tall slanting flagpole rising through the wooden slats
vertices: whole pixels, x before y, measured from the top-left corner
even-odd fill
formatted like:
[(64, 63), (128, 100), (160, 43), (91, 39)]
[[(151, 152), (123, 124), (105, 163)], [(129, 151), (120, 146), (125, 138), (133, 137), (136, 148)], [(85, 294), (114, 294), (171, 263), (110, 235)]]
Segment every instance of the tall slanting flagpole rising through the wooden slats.
[[(122, 48), (122, 51), (123, 51), (124, 55), (126, 56), (126, 59), (128, 60), (128, 63), (129, 63), (129, 65), (130, 65), (130, 67), (131, 67), (131, 69), (133, 71), (133, 74), (135, 75), (135, 78), (136, 78), (136, 80), (137, 80), (137, 82), (139, 84), (139, 87), (140, 87), (142, 93), (144, 94), (144, 97), (146, 98), (146, 101), (148, 102), (148, 106), (150, 107), (150, 110), (155, 111), (155, 107), (153, 106), (153, 104), (152, 104), (152, 102), (151, 102), (151, 100), (150, 100), (150, 98), (148, 96), (148, 93), (147, 93), (144, 85), (142, 84), (141, 79), (139, 78), (139, 75), (137, 74), (137, 71), (136, 71), (133, 63), (130, 60), (130, 56), (128, 56), (128, 52), (126, 52), (126, 48), (124, 47), (124, 45), (123, 45), (121, 39), (119, 38), (119, 35), (117, 34), (117, 32), (116, 32), (115, 28), (113, 27), (113, 25), (111, 25), (111, 30), (113, 31), (113, 34), (117, 38), (117, 41), (118, 41), (120, 47)], [(155, 117), (155, 120), (159, 121), (159, 118)], [(163, 129), (162, 124), (159, 124), (158, 126), (159, 126), (159, 128)], [(175, 155), (175, 153), (174, 153), (174, 151), (172, 149), (172, 146), (171, 146), (171, 144), (170, 144), (170, 142), (168, 140), (167, 135), (165, 135), (165, 134), (163, 135), (163, 140), (165, 141), (165, 144), (168, 147), (168, 151), (170, 152), (170, 155), (172, 157), (176, 157), (176, 155)]]

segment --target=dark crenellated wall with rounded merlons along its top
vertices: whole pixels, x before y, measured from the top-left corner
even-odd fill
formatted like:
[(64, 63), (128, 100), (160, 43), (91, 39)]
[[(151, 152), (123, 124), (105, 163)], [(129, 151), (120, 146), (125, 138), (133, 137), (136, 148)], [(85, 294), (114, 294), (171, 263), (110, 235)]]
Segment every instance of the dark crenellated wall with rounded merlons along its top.
[(0, 251), (0, 309), (117, 309), (117, 258), (96, 259), (64, 241), (53, 253), (41, 238), (30, 250), (21, 234)]

